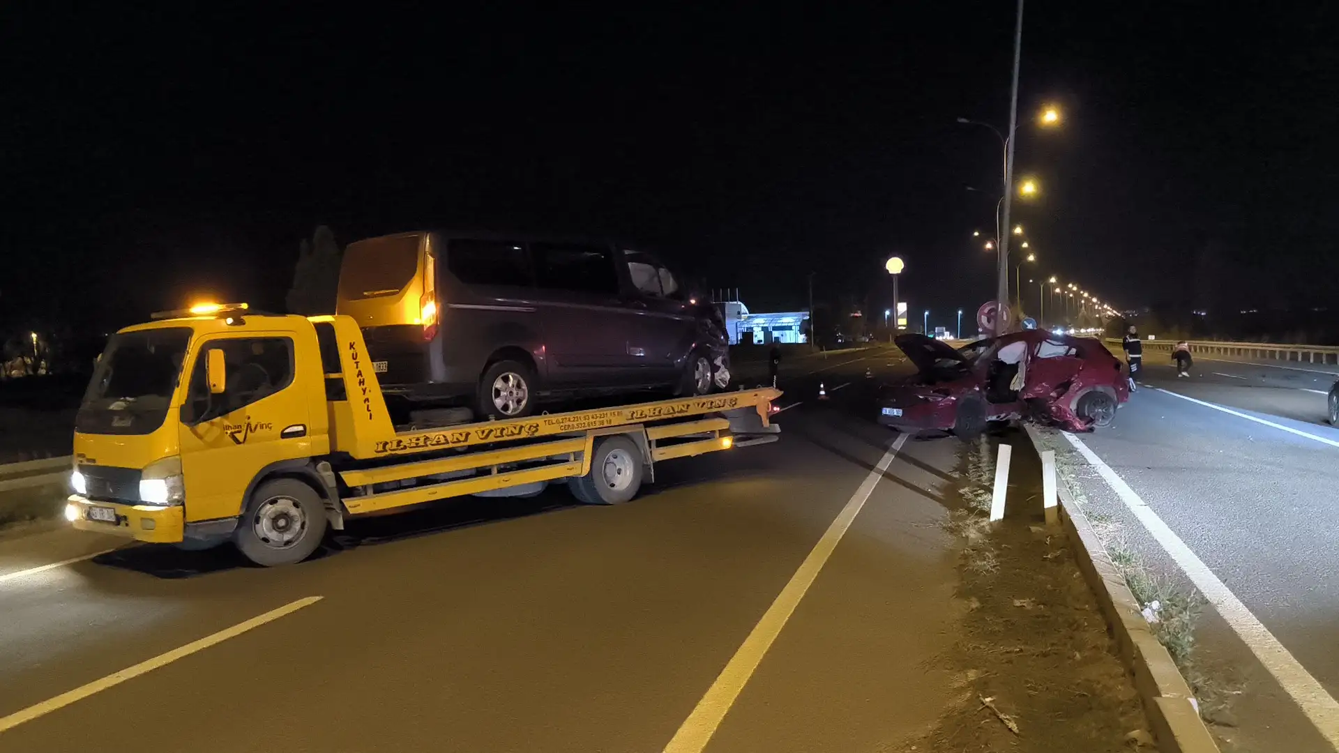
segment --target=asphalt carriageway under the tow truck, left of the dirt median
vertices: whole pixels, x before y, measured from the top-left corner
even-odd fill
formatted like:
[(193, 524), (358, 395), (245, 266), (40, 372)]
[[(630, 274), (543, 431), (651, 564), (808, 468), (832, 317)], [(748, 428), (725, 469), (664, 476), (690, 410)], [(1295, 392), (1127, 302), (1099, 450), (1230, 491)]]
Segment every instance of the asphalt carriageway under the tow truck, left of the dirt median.
[[(0, 539), (0, 752), (664, 750), (893, 438), (860, 413), (886, 350), (813, 360), (783, 371), (779, 442), (664, 464), (627, 505), (467, 498), (274, 569), (129, 547), (32, 572), (118, 541)], [(841, 389), (818, 402), (818, 379)], [(686, 750), (898, 749), (935, 721), (953, 464), (951, 442), (902, 448)]]

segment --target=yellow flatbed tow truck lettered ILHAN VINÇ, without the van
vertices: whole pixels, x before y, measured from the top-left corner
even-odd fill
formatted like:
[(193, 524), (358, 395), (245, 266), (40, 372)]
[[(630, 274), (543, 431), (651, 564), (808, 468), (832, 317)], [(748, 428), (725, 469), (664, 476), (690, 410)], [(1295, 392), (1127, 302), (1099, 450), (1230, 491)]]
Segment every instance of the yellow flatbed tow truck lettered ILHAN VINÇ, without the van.
[(775, 389), (398, 430), (348, 316), (202, 304), (116, 332), (75, 419), (75, 528), (261, 565), (434, 500), (636, 496), (664, 460), (773, 442)]

